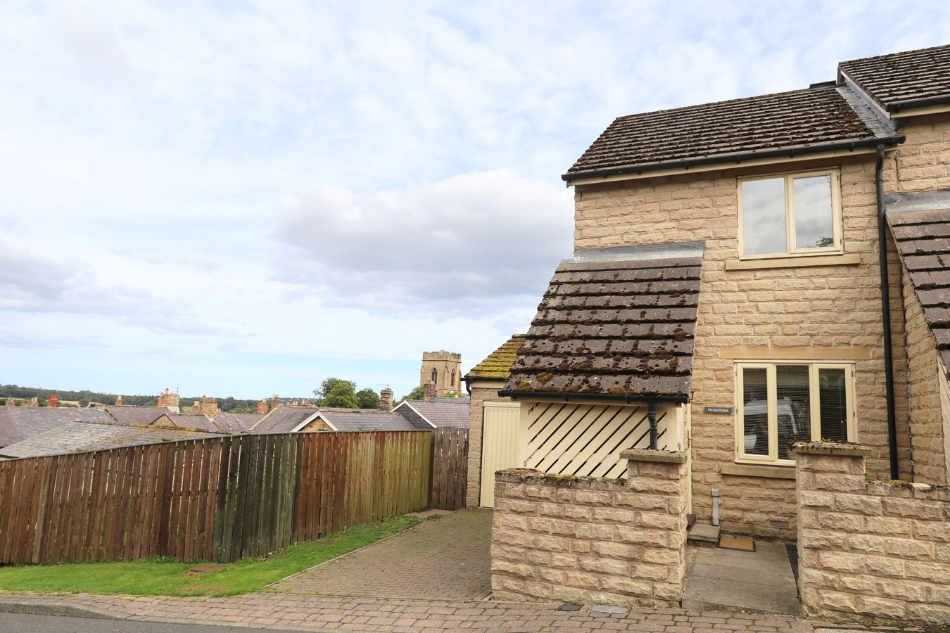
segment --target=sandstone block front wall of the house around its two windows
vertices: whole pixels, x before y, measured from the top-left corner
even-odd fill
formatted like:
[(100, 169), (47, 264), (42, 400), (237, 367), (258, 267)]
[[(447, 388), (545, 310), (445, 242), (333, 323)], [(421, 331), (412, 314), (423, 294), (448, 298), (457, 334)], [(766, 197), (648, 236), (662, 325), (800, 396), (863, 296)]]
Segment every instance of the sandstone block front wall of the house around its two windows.
[[(895, 158), (885, 163), (892, 172)], [(793, 268), (727, 270), (738, 258), (738, 177), (771, 171), (840, 169), (845, 254), (857, 263)], [(735, 406), (734, 363), (744, 350), (815, 352), (828, 361), (854, 356), (857, 440), (870, 446), (882, 475), (888, 468), (883, 369), (880, 267), (874, 157), (837, 162), (739, 168), (625, 182), (580, 185), (575, 192), (575, 248), (704, 240), (702, 287), (693, 358), (693, 511), (711, 516), (711, 490), (722, 495), (726, 531), (767, 538), (795, 538), (793, 482), (752, 475), (724, 475), (735, 461), (735, 416), (704, 413), (707, 406)], [(890, 264), (895, 374), (906, 375), (903, 307), (897, 252)], [(788, 259), (785, 261), (788, 262)], [(818, 357), (831, 350), (830, 355)], [(834, 350), (838, 350), (835, 352)], [(788, 360), (788, 359), (786, 359)], [(909, 476), (906, 382), (897, 384), (899, 457)], [(793, 466), (785, 467), (790, 472)]]

